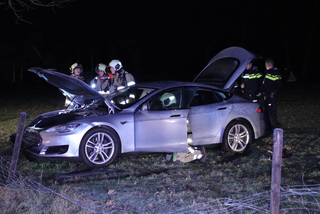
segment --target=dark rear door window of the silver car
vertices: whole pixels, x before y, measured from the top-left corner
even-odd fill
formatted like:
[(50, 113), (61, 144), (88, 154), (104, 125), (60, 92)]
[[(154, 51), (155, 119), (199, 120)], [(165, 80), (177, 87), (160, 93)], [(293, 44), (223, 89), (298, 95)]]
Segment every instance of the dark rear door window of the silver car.
[(196, 90), (189, 107), (209, 105), (219, 101), (220, 100), (216, 97), (212, 90), (199, 88)]

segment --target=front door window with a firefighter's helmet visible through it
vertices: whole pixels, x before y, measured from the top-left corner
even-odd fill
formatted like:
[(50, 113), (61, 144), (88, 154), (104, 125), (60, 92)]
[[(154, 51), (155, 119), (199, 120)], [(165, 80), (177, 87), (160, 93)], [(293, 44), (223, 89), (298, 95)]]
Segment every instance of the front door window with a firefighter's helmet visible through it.
[(149, 100), (149, 110), (161, 111), (181, 108), (181, 89), (165, 90)]

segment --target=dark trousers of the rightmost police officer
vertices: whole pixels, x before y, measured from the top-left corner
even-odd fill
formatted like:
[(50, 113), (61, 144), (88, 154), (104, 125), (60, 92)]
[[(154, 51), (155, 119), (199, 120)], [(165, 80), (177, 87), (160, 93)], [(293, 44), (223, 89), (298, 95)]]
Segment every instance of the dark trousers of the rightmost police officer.
[(266, 123), (266, 133), (272, 133), (278, 127), (276, 98), (266, 97), (264, 101), (263, 119)]

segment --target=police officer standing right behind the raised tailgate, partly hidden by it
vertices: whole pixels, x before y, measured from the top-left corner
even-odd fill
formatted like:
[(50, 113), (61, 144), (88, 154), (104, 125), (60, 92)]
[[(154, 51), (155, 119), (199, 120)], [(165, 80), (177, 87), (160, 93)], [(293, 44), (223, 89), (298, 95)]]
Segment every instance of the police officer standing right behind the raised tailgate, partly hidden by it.
[(263, 75), (250, 62), (241, 75), (241, 92), (245, 99), (257, 102), (262, 95), (260, 92)]

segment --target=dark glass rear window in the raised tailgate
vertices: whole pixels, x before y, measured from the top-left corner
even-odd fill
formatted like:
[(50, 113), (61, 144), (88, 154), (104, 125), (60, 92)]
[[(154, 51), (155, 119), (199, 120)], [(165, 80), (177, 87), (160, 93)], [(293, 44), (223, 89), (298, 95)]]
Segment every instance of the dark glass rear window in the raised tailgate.
[(236, 71), (240, 62), (233, 57), (225, 57), (212, 62), (197, 77), (196, 82), (205, 80), (225, 81)]

